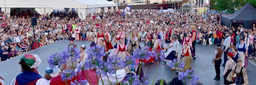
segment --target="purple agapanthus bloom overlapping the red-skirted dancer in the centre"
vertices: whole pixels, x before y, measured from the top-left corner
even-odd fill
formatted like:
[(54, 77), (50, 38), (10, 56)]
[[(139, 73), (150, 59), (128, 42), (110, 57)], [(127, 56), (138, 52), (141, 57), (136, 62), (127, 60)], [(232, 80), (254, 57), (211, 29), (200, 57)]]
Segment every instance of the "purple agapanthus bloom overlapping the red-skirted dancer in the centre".
[(150, 52), (148, 49), (149, 49), (148, 47), (142, 47), (140, 49), (136, 49), (133, 52), (133, 56), (137, 59), (148, 61), (150, 59), (150, 56), (152, 56), (152, 52)]

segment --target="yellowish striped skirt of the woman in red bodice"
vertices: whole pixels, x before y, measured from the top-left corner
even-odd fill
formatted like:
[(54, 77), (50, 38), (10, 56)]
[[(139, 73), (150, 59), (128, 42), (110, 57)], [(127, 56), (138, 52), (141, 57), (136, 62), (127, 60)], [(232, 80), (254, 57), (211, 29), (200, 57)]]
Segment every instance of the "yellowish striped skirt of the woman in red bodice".
[(185, 64), (184, 69), (180, 70), (181, 72), (185, 72), (187, 69), (191, 69), (191, 58), (189, 56), (182, 57), (181, 61)]

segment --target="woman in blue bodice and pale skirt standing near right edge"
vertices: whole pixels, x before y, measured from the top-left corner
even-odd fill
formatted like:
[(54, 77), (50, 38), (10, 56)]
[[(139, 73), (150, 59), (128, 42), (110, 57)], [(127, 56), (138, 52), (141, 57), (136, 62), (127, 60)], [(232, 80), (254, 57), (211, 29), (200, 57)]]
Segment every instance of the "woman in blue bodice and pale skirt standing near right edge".
[(240, 39), (240, 43), (236, 45), (236, 48), (240, 54), (242, 66), (246, 68), (248, 64), (248, 45), (245, 43), (244, 38)]

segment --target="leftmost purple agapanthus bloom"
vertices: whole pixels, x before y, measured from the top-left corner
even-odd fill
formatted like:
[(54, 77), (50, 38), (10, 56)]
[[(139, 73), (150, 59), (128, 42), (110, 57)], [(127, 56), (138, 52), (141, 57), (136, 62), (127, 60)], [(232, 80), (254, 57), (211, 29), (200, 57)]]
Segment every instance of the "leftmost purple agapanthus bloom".
[(62, 54), (55, 53), (49, 56), (47, 63), (50, 68), (54, 68), (57, 65), (59, 68), (62, 64), (67, 63), (68, 58), (69, 57), (63, 56)]

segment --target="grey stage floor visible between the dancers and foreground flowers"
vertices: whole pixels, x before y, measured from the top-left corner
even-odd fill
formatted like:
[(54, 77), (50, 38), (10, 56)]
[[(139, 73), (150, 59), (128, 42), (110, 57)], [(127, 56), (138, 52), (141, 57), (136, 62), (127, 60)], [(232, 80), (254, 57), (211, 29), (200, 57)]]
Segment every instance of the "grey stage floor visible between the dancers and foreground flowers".
[[(47, 64), (48, 56), (56, 52), (62, 52), (62, 50), (65, 47), (67, 47), (68, 44), (69, 44), (69, 41), (64, 41), (64, 40), (57, 41), (53, 44), (50, 44), (50, 45), (41, 47), (37, 50), (33, 50), (29, 52), (32, 54), (38, 54), (39, 57), (41, 58), (42, 63), (38, 66), (38, 71), (41, 73), (42, 76), (44, 76), (44, 70), (48, 66)], [(75, 44), (77, 44), (78, 46), (85, 44), (86, 47), (89, 47), (90, 42), (75, 41)], [(143, 44), (141, 43), (140, 45), (142, 46)], [(213, 80), (213, 78), (215, 77), (215, 69), (214, 69), (214, 65), (211, 63), (212, 62), (211, 59), (215, 49), (216, 49), (215, 45), (196, 45), (196, 55), (198, 56), (198, 58), (194, 59), (191, 66), (192, 68), (194, 68), (196, 75), (199, 76), (199, 81), (201, 81), (204, 85), (223, 85), (224, 84), (223, 82), (224, 78), (221, 78), (221, 80)], [(12, 79), (15, 78), (21, 72), (20, 71), (21, 67), (18, 64), (18, 62), (22, 56), (23, 55), (17, 56), (13, 59), (0, 63), (0, 76), (5, 79), (6, 85), (11, 84)], [(250, 60), (250, 61), (254, 62), (254, 60)], [(166, 82), (170, 81), (173, 71), (169, 71), (170, 67), (168, 66), (168, 63), (169, 61), (166, 64), (163, 64), (162, 61), (159, 61), (158, 71), (157, 71), (157, 76), (155, 81), (162, 78), (166, 80)], [(153, 81), (156, 67), (157, 67), (157, 61), (153, 64), (142, 64), (144, 75), (149, 77), (150, 83), (152, 83)], [(221, 67), (221, 74), (223, 73), (223, 71), (224, 71), (224, 67)], [(248, 73), (249, 85), (256, 85), (256, 76), (255, 76), (256, 66), (251, 62), (248, 63), (247, 73)], [(174, 77), (178, 77), (178, 75), (174, 74)]]

